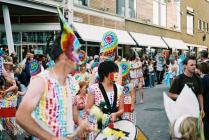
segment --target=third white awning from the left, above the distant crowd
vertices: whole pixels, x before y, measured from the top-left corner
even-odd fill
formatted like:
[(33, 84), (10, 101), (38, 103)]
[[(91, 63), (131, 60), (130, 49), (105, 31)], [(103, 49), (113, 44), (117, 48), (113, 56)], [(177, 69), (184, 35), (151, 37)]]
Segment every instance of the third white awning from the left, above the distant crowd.
[(182, 40), (163, 37), (169, 48), (188, 50), (188, 47)]

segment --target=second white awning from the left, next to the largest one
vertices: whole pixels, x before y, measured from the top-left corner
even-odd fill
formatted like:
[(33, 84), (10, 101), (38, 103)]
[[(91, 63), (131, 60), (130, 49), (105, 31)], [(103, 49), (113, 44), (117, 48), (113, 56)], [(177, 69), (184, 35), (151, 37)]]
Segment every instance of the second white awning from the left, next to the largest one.
[(130, 32), (131, 36), (139, 46), (148, 46), (156, 48), (168, 48), (160, 36), (147, 35), (141, 33)]

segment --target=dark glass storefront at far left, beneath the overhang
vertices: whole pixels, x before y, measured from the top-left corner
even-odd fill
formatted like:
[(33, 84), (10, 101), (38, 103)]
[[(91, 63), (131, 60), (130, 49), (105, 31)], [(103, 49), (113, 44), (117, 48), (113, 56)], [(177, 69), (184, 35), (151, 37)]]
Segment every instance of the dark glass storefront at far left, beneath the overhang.
[[(54, 33), (56, 33), (56, 31), (13, 32), (14, 47), (18, 54), (18, 60), (22, 60), (27, 52), (46, 54), (47, 41)], [(0, 33), (0, 47), (8, 51), (5, 32)]]

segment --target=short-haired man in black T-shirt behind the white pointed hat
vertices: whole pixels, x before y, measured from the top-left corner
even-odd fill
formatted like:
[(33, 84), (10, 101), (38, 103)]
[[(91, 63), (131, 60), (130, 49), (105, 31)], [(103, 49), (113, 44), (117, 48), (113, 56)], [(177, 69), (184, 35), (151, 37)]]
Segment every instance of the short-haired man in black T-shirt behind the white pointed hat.
[(184, 60), (185, 71), (183, 74), (178, 75), (174, 80), (169, 90), (169, 96), (173, 100), (176, 100), (181, 93), (184, 85), (187, 84), (195, 93), (200, 104), (200, 110), (202, 117), (204, 116), (203, 107), (203, 88), (201, 80), (195, 75), (196, 58), (190, 56)]

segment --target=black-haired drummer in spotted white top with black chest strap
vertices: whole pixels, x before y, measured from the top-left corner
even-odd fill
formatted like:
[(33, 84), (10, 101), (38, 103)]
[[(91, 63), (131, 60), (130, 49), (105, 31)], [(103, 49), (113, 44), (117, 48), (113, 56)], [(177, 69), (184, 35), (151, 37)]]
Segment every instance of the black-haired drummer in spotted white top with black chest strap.
[[(105, 128), (111, 122), (116, 121), (123, 113), (123, 88), (115, 84), (118, 69), (117, 64), (113, 61), (100, 63), (98, 68), (100, 83), (95, 83), (89, 87), (86, 104), (87, 112), (93, 105), (96, 105), (104, 114), (101, 121), (98, 121), (96, 117), (91, 120), (93, 127), (98, 126), (98, 129)], [(97, 133), (98, 131), (91, 132), (89, 139), (93, 140)]]

